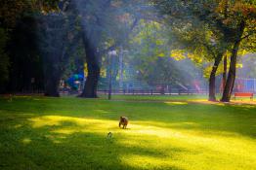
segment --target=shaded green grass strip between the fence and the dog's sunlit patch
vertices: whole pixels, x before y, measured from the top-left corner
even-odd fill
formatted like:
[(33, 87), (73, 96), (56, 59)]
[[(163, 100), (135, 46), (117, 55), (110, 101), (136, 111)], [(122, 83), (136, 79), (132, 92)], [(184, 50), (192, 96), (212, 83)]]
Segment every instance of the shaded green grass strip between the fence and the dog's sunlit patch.
[(256, 106), (200, 104), (178, 101), (107, 101), (80, 98), (17, 97), (0, 102), (0, 110), (33, 115), (56, 115), (74, 118), (111, 119), (127, 116), (131, 122), (168, 128), (240, 134), (256, 138)]

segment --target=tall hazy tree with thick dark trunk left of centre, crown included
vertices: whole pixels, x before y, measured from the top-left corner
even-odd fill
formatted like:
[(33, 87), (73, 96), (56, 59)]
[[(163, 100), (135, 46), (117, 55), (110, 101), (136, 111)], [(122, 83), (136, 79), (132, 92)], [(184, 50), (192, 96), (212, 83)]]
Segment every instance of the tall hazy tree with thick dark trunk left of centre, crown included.
[[(126, 33), (123, 22), (128, 13), (132, 13), (136, 1), (73, 1), (82, 26), (82, 39), (86, 51), (88, 77), (81, 97), (97, 97), (97, 86), (100, 78), (101, 63), (108, 51), (121, 46)], [(134, 10), (134, 9), (133, 9)], [(133, 27), (134, 21), (128, 26)]]

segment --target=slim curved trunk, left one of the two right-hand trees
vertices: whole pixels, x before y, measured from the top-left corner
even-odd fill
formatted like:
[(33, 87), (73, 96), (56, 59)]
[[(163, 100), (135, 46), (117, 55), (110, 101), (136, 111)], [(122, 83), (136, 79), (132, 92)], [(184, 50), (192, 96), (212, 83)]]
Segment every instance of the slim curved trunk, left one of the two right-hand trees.
[(211, 75), (209, 78), (209, 96), (208, 96), (209, 101), (216, 101), (215, 77), (216, 77), (216, 72), (218, 70), (221, 60), (222, 60), (222, 55), (220, 54), (217, 56), (217, 58), (215, 58), (214, 65), (212, 67)]

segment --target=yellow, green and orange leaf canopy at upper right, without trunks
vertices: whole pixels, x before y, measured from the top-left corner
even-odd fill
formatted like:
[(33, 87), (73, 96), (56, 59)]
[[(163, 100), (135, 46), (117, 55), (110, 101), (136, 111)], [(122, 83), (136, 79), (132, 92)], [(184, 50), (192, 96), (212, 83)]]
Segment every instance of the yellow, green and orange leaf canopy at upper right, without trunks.
[[(192, 60), (199, 65), (204, 66), (205, 62), (234, 50), (237, 41), (241, 41), (241, 45), (235, 51), (242, 54), (255, 51), (255, 1), (152, 2), (171, 26), (174, 49), (189, 52)], [(245, 29), (241, 32), (239, 29), (243, 23)], [(206, 65), (206, 77), (211, 68)]]

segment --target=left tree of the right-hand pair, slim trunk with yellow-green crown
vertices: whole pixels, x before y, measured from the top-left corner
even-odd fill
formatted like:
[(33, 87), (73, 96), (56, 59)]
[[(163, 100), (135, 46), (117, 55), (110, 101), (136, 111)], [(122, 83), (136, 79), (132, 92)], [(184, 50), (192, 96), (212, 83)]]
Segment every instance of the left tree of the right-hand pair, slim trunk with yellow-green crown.
[[(215, 77), (222, 56), (228, 47), (225, 37), (195, 14), (195, 7), (200, 5), (199, 2), (194, 5), (195, 7), (182, 1), (156, 0), (154, 3), (170, 25), (173, 48), (189, 52), (194, 61), (213, 62), (209, 75), (208, 99), (216, 101)], [(196, 59), (196, 57), (203, 59)]]

